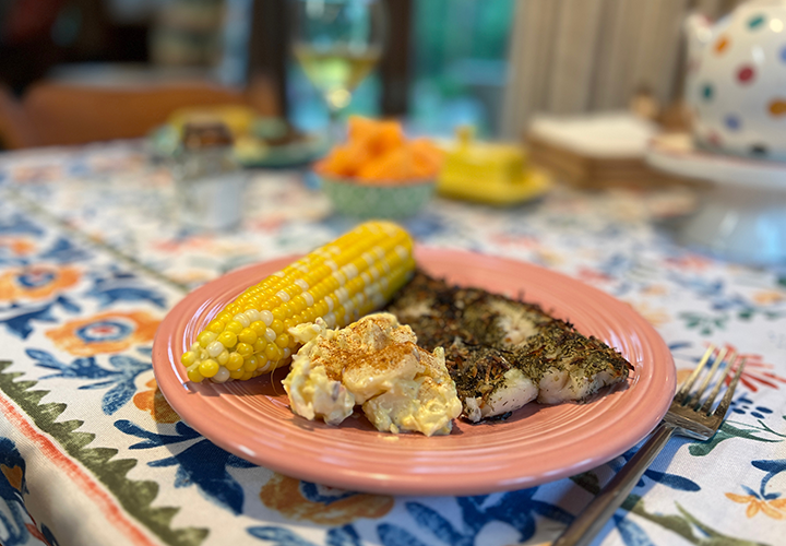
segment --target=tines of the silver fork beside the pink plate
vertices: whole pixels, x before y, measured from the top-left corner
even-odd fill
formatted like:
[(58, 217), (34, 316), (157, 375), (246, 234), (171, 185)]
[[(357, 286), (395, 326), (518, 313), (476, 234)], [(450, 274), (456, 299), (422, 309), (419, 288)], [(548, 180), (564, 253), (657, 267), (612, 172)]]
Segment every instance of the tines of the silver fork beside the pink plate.
[[(738, 361), (739, 360), (739, 361)], [(717, 348), (714, 345), (710, 345), (704, 355), (702, 356), (699, 365), (695, 367), (690, 377), (682, 383), (682, 387), (677, 392), (674, 399), (675, 404), (679, 404), (683, 407), (691, 407), (705, 415), (711, 415), (713, 403), (717, 397), (724, 383), (728, 380), (728, 376), (734, 373), (728, 389), (723, 400), (718, 404), (714, 414), (723, 417), (731, 403), (731, 396), (734, 395), (735, 388), (742, 375), (742, 368), (745, 367), (746, 359), (738, 358), (735, 351), (729, 351), (727, 347)], [(710, 367), (706, 370), (707, 366)], [(719, 370), (719, 375), (718, 375)], [(693, 385), (696, 383), (699, 378), (703, 375), (701, 384), (695, 391), (692, 391)], [(715, 379), (715, 385), (713, 387), (710, 394), (702, 404), (702, 395), (704, 391), (710, 387), (713, 378)], [(701, 407), (701, 408), (700, 408)]]

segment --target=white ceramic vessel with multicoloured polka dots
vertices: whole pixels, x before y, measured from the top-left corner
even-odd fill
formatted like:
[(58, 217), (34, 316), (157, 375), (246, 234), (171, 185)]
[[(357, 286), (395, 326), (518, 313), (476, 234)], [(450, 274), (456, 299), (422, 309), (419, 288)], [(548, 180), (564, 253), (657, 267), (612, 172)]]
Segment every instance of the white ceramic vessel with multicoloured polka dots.
[(686, 99), (696, 146), (786, 161), (786, 0), (687, 20)]

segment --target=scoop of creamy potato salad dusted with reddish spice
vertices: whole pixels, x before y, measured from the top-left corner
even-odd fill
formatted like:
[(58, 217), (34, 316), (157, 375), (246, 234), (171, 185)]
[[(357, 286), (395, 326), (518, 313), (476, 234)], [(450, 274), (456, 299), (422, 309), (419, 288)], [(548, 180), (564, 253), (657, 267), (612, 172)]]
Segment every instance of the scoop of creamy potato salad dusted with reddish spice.
[(442, 348), (418, 347), (412, 329), (390, 313), (340, 330), (317, 319), (290, 333), (305, 343), (284, 379), (297, 415), (338, 425), (359, 404), (378, 430), (431, 436), (449, 434), (461, 414)]

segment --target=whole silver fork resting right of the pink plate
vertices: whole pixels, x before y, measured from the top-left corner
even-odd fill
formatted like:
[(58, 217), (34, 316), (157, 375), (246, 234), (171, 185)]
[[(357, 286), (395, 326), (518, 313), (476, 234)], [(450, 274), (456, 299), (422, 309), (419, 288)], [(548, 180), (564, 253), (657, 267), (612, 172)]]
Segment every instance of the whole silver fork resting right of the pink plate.
[[(675, 394), (668, 413), (655, 428), (646, 443), (606, 484), (597, 497), (590, 502), (590, 506), (573, 520), (573, 523), (565, 529), (551, 546), (585, 546), (590, 544), (606, 524), (606, 521), (611, 518), (617, 508), (628, 497), (633, 486), (639, 482), (644, 471), (650, 467), (671, 436), (679, 435), (699, 440), (708, 440), (715, 435), (731, 403), (731, 396), (734, 396), (734, 391), (745, 367), (743, 358), (737, 365), (737, 370), (726, 390), (726, 394), (717, 407), (712, 411), (715, 399), (720, 392), (726, 378), (733, 371), (735, 360), (737, 360), (737, 354), (734, 351), (730, 354), (726, 348), (719, 349), (717, 353), (716, 351), (714, 346), (707, 348), (699, 365)], [(704, 373), (698, 390), (691, 392), (696, 380), (710, 363), (712, 363), (710, 370)], [(710, 387), (718, 369), (722, 369), (722, 373), (715, 380), (712, 391), (702, 403), (702, 395)]]

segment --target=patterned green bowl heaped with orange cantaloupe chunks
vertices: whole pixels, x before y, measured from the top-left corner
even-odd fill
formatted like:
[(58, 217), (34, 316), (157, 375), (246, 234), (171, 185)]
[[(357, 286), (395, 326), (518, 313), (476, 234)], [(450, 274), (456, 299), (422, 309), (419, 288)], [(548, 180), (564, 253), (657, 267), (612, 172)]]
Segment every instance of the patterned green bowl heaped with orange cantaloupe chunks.
[(407, 139), (398, 121), (353, 116), (347, 140), (314, 165), (336, 212), (403, 218), (431, 200), (444, 153), (428, 139)]

